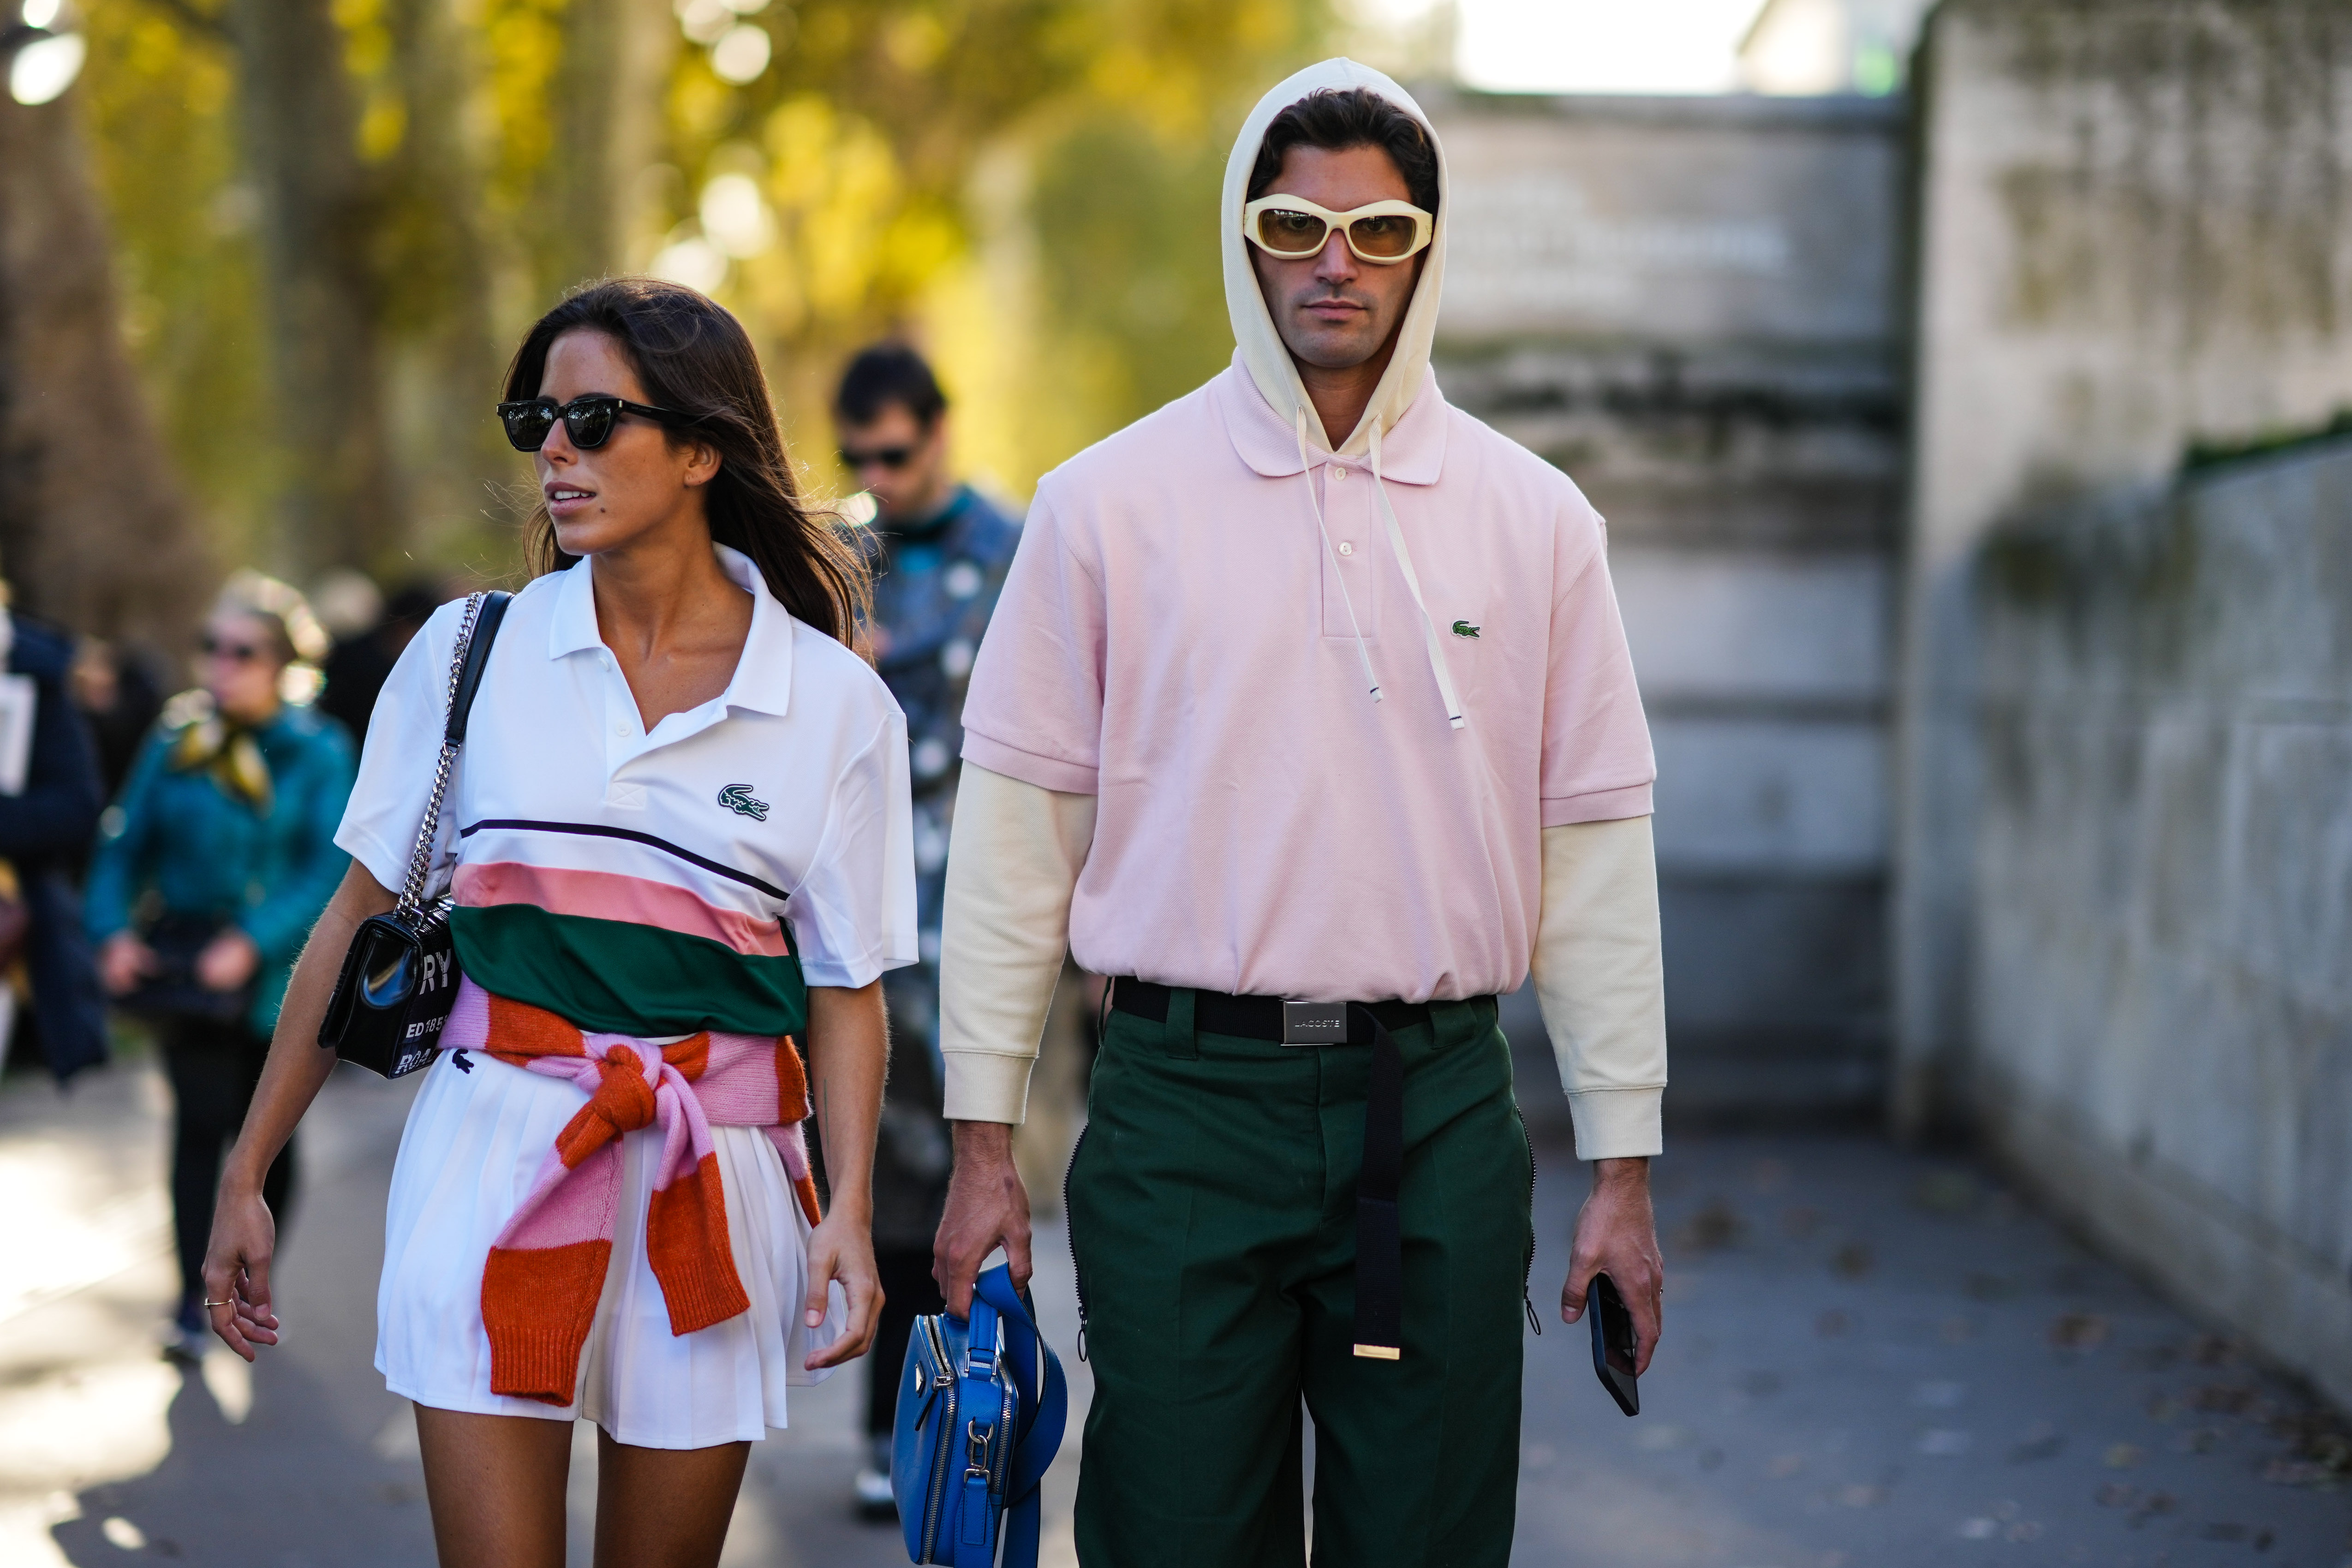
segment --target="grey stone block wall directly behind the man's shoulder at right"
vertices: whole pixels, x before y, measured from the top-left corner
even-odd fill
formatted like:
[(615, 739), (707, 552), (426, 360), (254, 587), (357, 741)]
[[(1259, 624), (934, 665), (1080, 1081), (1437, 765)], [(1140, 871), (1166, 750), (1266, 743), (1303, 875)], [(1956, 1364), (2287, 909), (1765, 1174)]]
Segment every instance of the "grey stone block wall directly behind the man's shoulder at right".
[(1658, 748), (1677, 1117), (1884, 1095), (1903, 106), (1446, 96), (1446, 397), (1564, 468)]

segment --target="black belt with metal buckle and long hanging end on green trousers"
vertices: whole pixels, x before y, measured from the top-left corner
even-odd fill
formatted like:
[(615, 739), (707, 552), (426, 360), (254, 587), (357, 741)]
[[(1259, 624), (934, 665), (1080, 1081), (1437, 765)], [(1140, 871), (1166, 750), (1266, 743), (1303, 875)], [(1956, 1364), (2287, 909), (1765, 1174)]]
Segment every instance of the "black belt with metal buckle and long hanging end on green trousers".
[[(1169, 987), (1150, 980), (1110, 983), (1110, 1006), (1150, 1023), (1167, 1023)], [(1291, 1027), (1284, 1027), (1284, 1009)], [(1331, 1018), (1338, 1011), (1341, 1018)], [(1305, 1013), (1305, 1016), (1303, 1016)], [(1310, 1018), (1319, 1016), (1319, 1018)], [(1315, 1039), (1315, 1023), (1331, 1034)], [(1345, 1020), (1345, 1041), (1338, 1025)], [(1364, 1088), (1364, 1164), (1355, 1178), (1355, 1354), (1395, 1361), (1404, 1354), (1404, 1232), (1397, 1227), (1397, 1190), (1404, 1185), (1404, 1056), (1390, 1030), (1430, 1020), (1425, 1001), (1348, 1001), (1301, 1009), (1282, 997), (1230, 997), (1192, 992), (1192, 1030), (1282, 1044), (1371, 1046), (1371, 1081)], [(1310, 1039), (1296, 1039), (1308, 1032)]]

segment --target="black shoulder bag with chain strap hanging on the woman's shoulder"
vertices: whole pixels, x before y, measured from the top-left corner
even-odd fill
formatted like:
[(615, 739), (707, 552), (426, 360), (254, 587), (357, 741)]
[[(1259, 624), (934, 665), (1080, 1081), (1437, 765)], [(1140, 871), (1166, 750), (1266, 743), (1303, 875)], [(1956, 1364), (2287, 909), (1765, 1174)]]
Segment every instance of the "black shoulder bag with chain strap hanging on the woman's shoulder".
[(456, 1006), (456, 943), (449, 933), (452, 898), (426, 903), (426, 879), (433, 870), (433, 839), (440, 835), (442, 797), (449, 771), (466, 745), (466, 715), (482, 686), (489, 646), (499, 639), (499, 621), (513, 595), (477, 592), (466, 599), (456, 654), (449, 658), (449, 717), (442, 724), (442, 755), (433, 773), (433, 797), (409, 853), (409, 879), (390, 914), (360, 924), (343, 952), (343, 973), (334, 980), (327, 1020), (318, 1044), (369, 1072), (397, 1079), (433, 1063), (440, 1032)]

